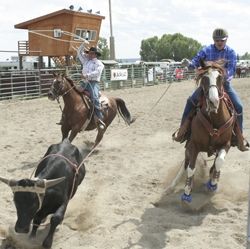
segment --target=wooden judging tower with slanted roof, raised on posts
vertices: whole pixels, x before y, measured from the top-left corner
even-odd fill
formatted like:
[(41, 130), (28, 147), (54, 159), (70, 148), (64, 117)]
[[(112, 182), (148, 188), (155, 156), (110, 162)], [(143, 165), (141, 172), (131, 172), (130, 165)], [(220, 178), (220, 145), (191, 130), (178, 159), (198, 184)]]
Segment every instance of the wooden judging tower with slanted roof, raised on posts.
[(18, 41), (20, 68), (23, 56), (38, 56), (39, 68), (43, 56), (48, 56), (57, 66), (74, 63), (76, 48), (82, 43), (81, 37), (96, 46), (104, 16), (62, 9), (15, 25), (17, 29), (27, 29), (28, 41)]

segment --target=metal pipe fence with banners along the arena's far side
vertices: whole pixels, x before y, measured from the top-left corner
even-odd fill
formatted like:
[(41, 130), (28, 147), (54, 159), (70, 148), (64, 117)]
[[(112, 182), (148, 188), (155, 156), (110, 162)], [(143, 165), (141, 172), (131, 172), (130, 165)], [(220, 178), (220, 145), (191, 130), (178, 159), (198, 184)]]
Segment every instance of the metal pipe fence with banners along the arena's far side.
[[(165, 84), (172, 81), (182, 81), (194, 77), (193, 72), (186, 72), (181, 79), (176, 79), (173, 72), (163, 69), (160, 72), (148, 65), (127, 65), (118, 68), (126, 72), (125, 78), (112, 78), (112, 70), (105, 66), (100, 88), (101, 90), (126, 89), (133, 87)], [(125, 71), (124, 71), (125, 70)], [(46, 96), (53, 82), (53, 72), (63, 72), (76, 84), (81, 79), (81, 67), (64, 69), (42, 69), (28, 71), (0, 72), (0, 101), (10, 99), (31, 99)]]

